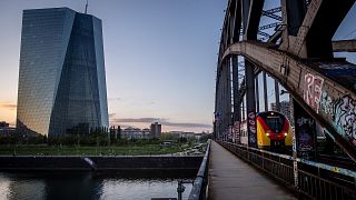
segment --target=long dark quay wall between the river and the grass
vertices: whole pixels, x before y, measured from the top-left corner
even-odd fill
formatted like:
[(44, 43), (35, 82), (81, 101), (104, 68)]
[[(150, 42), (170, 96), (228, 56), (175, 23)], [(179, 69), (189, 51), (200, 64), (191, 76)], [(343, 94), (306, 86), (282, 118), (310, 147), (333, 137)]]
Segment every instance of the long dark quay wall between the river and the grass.
[[(90, 166), (85, 158), (89, 158)], [(198, 170), (202, 157), (0, 157), (0, 171)]]

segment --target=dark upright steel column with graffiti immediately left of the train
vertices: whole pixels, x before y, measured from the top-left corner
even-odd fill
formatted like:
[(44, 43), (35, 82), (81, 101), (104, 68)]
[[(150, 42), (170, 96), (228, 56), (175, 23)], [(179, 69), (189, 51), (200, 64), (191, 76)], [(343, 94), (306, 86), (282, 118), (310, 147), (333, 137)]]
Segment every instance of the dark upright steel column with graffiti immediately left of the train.
[(256, 134), (256, 99), (255, 99), (255, 66), (245, 59), (245, 76), (246, 76), (246, 104), (247, 104), (247, 129), (248, 129), (248, 146), (257, 147)]

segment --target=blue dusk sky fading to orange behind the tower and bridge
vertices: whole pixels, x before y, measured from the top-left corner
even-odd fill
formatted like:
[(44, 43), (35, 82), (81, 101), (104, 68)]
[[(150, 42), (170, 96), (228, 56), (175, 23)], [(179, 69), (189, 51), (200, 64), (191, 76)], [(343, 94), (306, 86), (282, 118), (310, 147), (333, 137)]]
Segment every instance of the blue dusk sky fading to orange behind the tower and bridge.
[[(266, 0), (265, 9), (276, 2)], [(16, 121), (22, 10), (68, 7), (83, 12), (85, 3), (0, 0), (0, 121)], [(226, 6), (227, 0), (89, 0), (88, 13), (102, 20), (111, 126), (146, 128), (159, 121), (164, 131), (211, 131)], [(355, 10), (335, 39), (356, 38)], [(261, 19), (261, 24), (268, 22)], [(347, 57), (356, 60), (355, 53)]]

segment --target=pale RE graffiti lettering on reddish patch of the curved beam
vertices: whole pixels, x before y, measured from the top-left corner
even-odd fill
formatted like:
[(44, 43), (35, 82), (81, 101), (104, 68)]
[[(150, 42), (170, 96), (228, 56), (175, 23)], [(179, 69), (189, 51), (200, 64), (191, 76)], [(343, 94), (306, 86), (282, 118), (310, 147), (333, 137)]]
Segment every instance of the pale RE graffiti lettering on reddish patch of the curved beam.
[(324, 79), (312, 73), (304, 76), (304, 100), (318, 113)]

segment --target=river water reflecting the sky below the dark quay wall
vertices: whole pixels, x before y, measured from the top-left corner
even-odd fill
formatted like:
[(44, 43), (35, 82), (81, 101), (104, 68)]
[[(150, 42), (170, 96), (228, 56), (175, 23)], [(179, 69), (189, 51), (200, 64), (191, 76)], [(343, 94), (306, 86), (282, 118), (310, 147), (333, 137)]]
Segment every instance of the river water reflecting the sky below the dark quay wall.
[[(125, 173), (123, 173), (125, 174)], [(131, 178), (130, 178), (131, 177)], [(167, 176), (166, 176), (167, 177)], [(99, 174), (92, 172), (0, 172), (0, 199), (151, 199), (177, 198), (178, 180), (190, 178)], [(186, 183), (182, 199), (188, 199), (191, 184)]]

